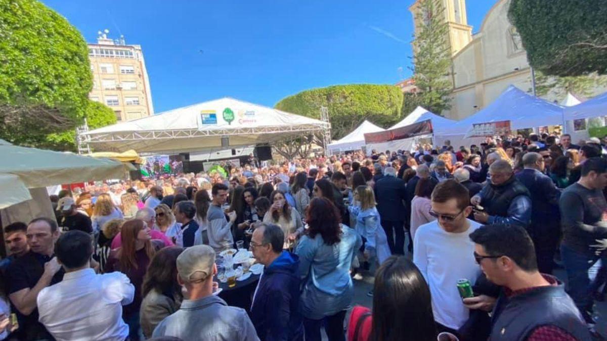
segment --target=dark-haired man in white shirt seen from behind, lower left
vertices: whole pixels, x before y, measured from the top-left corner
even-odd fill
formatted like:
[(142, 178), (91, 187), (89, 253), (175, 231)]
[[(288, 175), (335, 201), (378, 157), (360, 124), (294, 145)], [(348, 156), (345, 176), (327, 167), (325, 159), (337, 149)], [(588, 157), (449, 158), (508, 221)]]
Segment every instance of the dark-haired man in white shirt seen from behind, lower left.
[(90, 235), (69, 231), (56, 242), (63, 281), (38, 294), (38, 320), (56, 340), (120, 340), (129, 336), (122, 306), (133, 301), (135, 287), (121, 272), (98, 275), (90, 268)]

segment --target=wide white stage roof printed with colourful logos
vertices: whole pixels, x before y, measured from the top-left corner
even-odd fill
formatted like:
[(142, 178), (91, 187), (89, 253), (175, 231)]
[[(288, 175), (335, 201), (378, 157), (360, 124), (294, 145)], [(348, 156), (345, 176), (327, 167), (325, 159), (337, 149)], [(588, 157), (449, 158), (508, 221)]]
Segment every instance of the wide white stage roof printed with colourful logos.
[[(229, 120), (229, 113), (233, 120)], [(329, 128), (330, 124), (313, 118), (225, 97), (82, 135), (98, 150), (135, 149), (139, 153), (173, 154), (221, 148), (224, 136), (229, 137), (231, 147), (252, 146)]]

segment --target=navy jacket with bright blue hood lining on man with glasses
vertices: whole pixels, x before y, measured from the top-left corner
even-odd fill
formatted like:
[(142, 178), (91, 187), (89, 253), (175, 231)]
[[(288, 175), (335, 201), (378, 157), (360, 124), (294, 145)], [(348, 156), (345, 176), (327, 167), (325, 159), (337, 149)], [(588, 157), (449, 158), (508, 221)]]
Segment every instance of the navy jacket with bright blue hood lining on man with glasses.
[(304, 340), (299, 285), (296, 254), (282, 251), (265, 267), (251, 307), (251, 321), (260, 340)]

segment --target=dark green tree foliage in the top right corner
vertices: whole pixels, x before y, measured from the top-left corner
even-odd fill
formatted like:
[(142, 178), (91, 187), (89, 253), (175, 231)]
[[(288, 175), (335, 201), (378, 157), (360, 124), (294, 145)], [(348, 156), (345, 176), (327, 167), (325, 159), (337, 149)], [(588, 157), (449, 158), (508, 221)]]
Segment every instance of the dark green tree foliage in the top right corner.
[(529, 64), (546, 75), (607, 73), (605, 0), (512, 0)]

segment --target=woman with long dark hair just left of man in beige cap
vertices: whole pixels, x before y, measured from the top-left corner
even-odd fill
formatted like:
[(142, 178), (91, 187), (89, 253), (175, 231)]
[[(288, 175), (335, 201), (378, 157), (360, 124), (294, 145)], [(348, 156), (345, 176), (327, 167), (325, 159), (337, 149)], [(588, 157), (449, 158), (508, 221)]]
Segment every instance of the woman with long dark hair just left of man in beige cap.
[(182, 248), (171, 246), (156, 252), (143, 279), (140, 323), (143, 336), (152, 337), (154, 328), (177, 311), (183, 300), (177, 283), (177, 257)]

